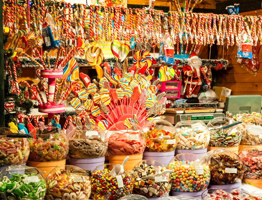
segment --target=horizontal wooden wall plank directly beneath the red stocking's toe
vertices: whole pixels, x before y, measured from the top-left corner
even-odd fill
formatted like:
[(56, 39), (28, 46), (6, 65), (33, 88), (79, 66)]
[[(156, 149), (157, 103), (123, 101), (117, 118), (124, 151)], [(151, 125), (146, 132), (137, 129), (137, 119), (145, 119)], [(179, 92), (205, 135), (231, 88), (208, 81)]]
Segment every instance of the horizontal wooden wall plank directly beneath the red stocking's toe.
[(254, 77), (250, 73), (228, 73), (219, 78), (218, 83), (262, 83), (262, 72), (258, 72)]

